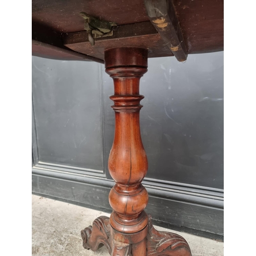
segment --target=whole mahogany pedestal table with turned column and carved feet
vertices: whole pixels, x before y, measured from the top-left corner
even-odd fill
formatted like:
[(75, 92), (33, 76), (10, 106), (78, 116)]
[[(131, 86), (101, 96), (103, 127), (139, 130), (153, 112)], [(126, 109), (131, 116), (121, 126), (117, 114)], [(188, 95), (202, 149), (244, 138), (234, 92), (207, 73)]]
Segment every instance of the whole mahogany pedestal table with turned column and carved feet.
[(190, 53), (221, 50), (223, 1), (32, 0), (33, 55), (101, 62), (114, 80), (113, 212), (81, 231), (84, 248), (105, 245), (113, 256), (191, 255), (184, 238), (157, 231), (144, 211), (148, 194), (141, 182), (147, 157), (140, 135), (144, 97), (139, 81), (148, 57), (185, 61)]

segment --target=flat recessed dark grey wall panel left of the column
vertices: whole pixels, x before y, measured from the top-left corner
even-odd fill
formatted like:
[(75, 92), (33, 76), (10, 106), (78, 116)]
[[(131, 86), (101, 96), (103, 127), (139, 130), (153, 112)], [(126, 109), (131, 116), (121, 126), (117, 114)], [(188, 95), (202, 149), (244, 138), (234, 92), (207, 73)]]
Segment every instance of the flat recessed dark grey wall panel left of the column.
[(40, 162), (103, 170), (98, 63), (32, 57)]

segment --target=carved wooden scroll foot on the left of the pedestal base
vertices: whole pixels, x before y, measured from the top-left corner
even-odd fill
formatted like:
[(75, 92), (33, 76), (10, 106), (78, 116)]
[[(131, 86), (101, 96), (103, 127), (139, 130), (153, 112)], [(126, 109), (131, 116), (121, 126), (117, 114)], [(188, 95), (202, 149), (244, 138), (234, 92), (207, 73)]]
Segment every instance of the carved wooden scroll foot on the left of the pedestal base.
[(89, 226), (81, 230), (82, 246), (85, 249), (96, 251), (105, 245), (111, 254), (110, 219), (105, 216), (98, 217)]

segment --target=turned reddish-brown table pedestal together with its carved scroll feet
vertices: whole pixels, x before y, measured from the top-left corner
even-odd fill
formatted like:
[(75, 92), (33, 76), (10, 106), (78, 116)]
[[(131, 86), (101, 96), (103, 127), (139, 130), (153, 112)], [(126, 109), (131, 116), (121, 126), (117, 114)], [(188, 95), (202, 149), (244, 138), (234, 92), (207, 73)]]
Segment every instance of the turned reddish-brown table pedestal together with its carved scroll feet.
[[(83, 247), (97, 250), (104, 244), (113, 256), (191, 255), (180, 236), (154, 229), (144, 208), (148, 194), (141, 185), (147, 158), (140, 136), (140, 78), (147, 72), (147, 50), (115, 48), (105, 51), (105, 71), (114, 80), (115, 137), (109, 157), (109, 172), (116, 184), (109, 202), (110, 219), (97, 218), (81, 231)], [(150, 217), (150, 216), (149, 216)]]

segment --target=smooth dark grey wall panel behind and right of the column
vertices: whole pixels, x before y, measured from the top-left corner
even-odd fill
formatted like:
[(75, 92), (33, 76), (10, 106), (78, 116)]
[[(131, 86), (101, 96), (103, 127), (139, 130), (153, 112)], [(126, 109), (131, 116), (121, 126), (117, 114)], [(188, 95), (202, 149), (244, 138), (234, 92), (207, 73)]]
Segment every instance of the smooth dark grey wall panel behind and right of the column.
[[(106, 155), (114, 135), (113, 81), (104, 79)], [(141, 135), (146, 178), (223, 189), (223, 52), (148, 59)]]

